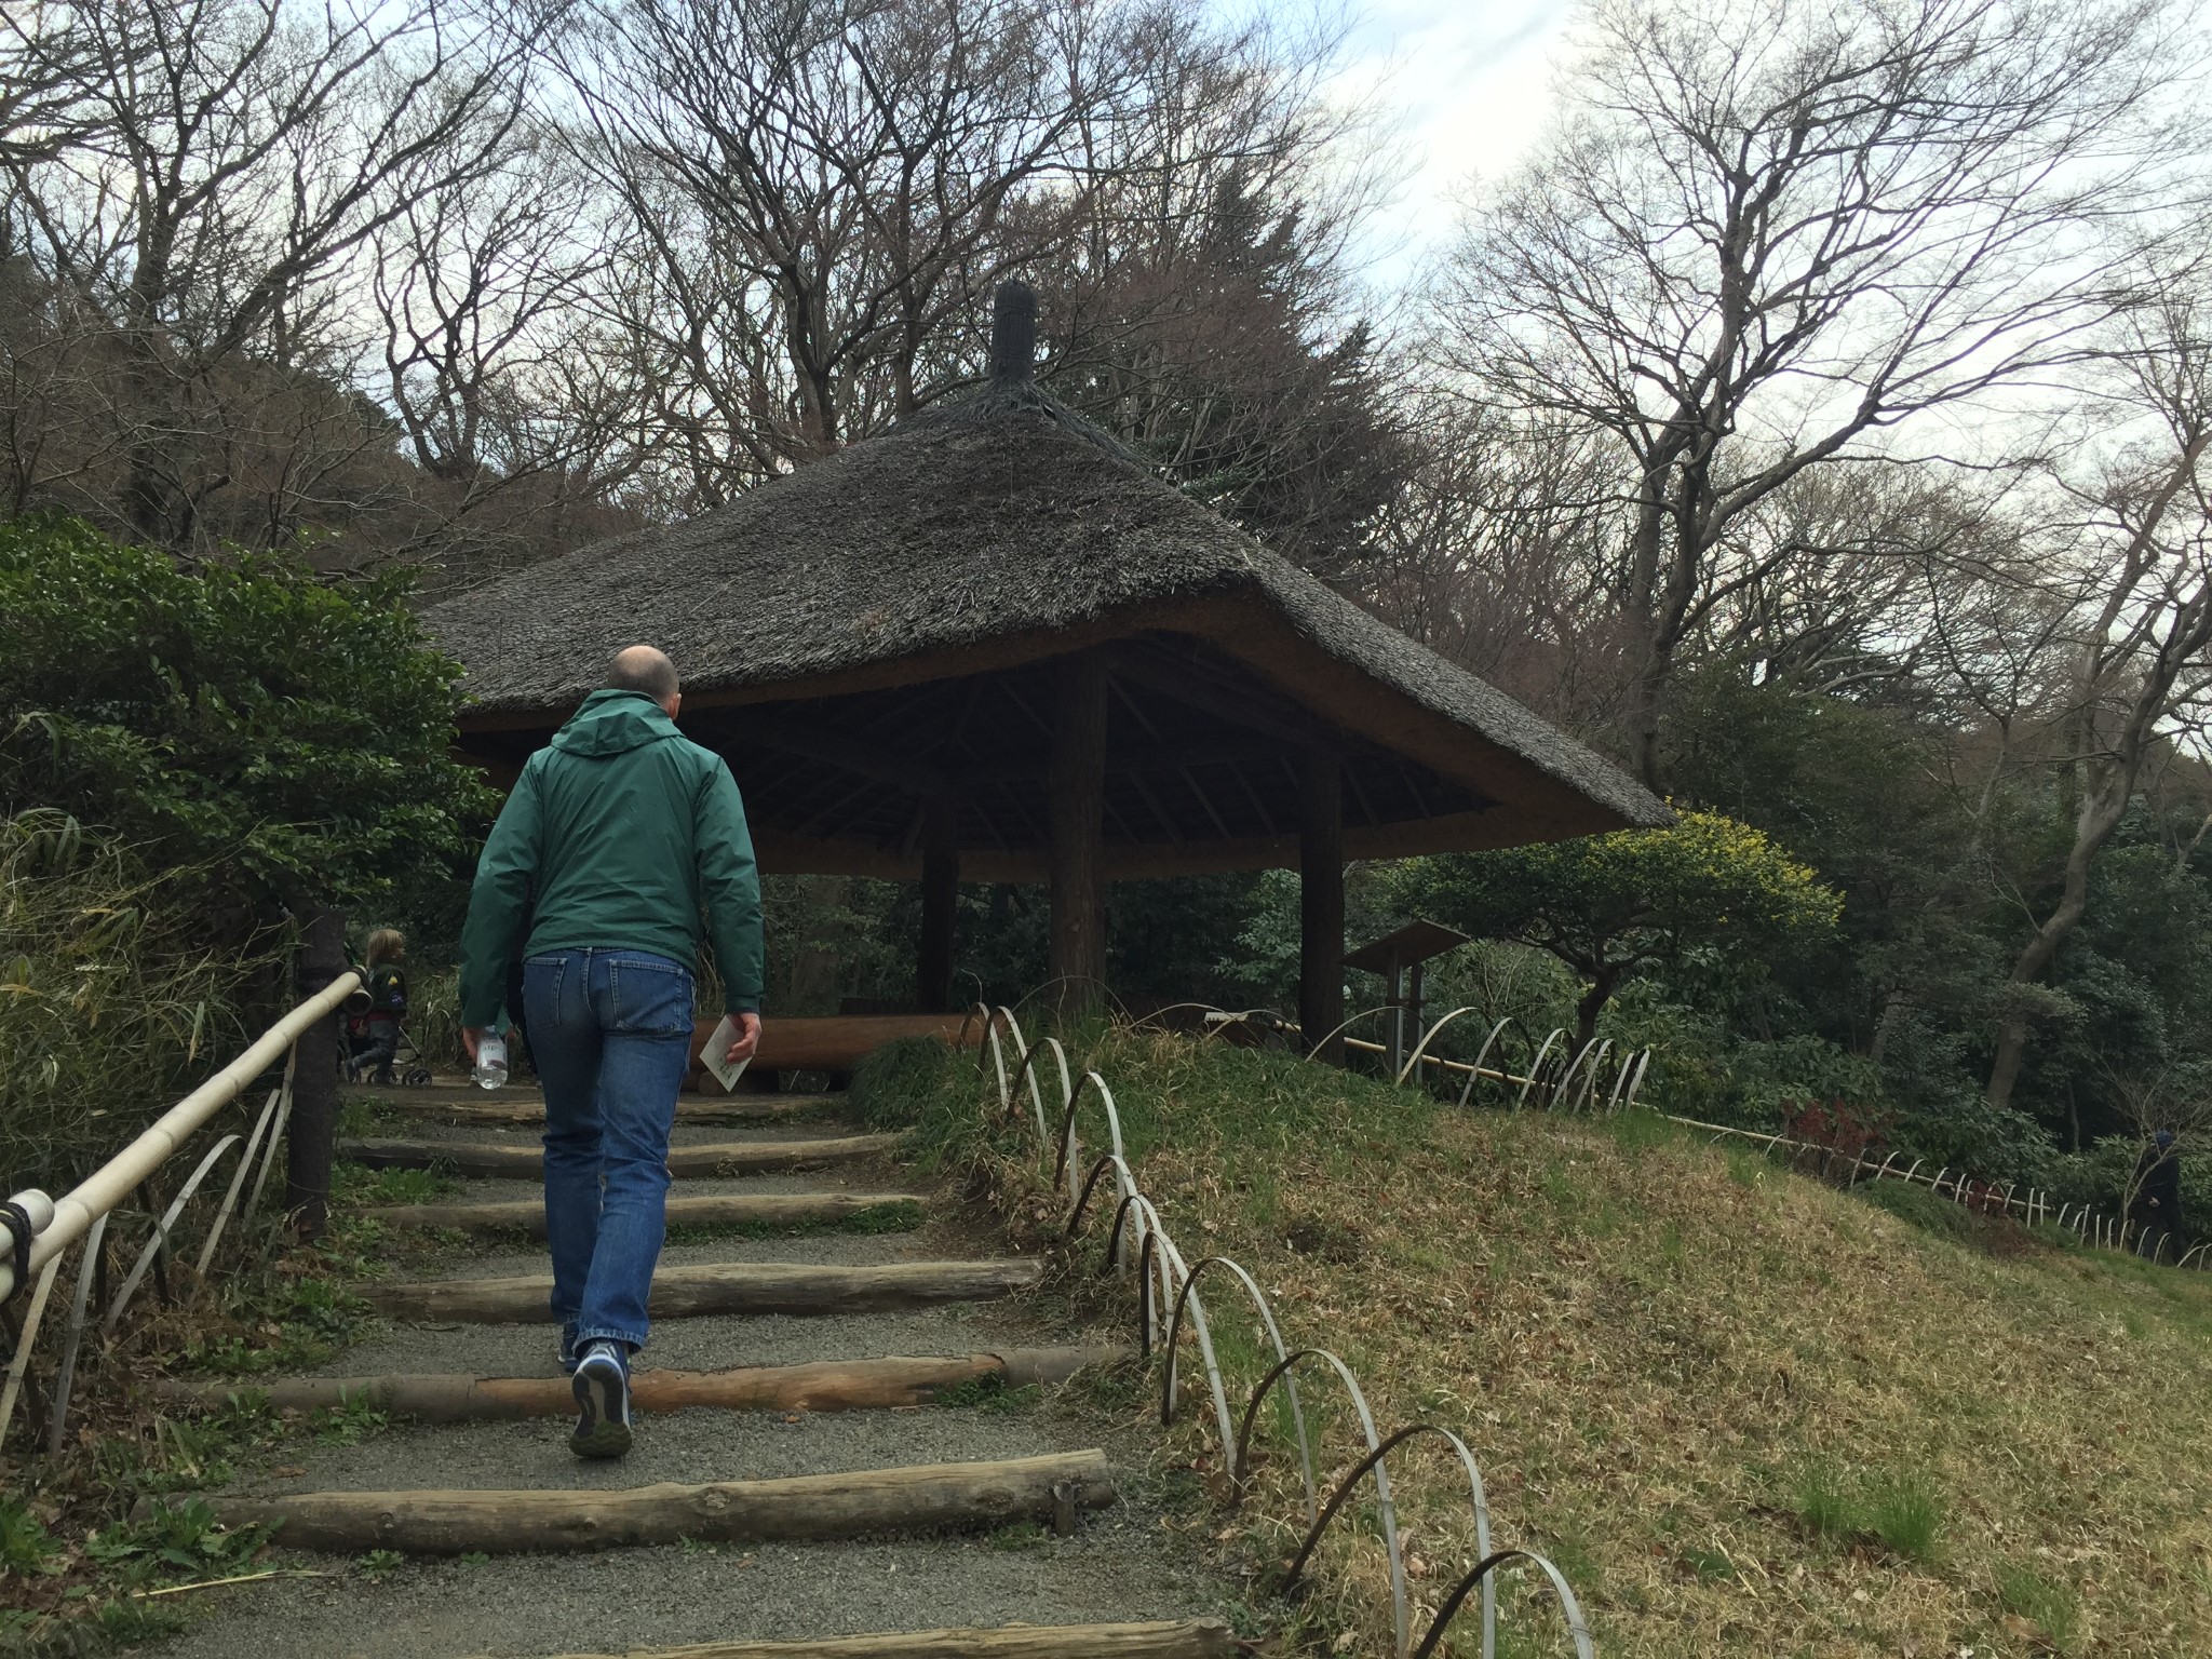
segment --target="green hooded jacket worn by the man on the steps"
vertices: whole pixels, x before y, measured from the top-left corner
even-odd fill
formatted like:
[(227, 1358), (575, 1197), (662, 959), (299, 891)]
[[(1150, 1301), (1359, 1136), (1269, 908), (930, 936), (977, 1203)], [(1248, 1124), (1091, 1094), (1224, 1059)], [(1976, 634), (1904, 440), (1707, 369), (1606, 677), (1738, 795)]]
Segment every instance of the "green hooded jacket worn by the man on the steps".
[(462, 1024), (498, 1018), (533, 900), (526, 956), (597, 947), (690, 967), (708, 936), (728, 1011), (761, 1006), (761, 876), (737, 779), (644, 692), (593, 692), (522, 768), (476, 863)]

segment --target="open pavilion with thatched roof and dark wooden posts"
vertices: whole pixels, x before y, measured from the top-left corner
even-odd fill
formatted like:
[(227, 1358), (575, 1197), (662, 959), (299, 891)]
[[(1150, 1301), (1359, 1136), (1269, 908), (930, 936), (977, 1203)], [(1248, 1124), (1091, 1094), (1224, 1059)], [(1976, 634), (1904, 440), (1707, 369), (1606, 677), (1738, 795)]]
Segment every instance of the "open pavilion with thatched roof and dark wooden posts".
[(978, 394), (431, 611), (476, 699), (465, 750), (520, 768), (650, 641), (765, 869), (925, 878), (925, 1000), (962, 876), (1051, 878), (1053, 967), (1082, 980), (1104, 962), (1099, 880), (1283, 865), (1307, 876), (1321, 1029), (1343, 858), (1668, 821), (1044, 394), (1026, 288), (995, 321)]

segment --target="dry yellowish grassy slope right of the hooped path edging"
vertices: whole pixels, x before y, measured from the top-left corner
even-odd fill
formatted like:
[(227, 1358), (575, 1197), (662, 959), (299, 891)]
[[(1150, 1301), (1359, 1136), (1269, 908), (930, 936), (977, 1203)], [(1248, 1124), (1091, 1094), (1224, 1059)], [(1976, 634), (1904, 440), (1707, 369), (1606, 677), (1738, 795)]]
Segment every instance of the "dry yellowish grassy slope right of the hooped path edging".
[[(1186, 1254), (1250, 1265), (1385, 1431), (1458, 1429), (1500, 1542), (1568, 1571), (1604, 1652), (2212, 1652), (2212, 1276), (1944, 1239), (1648, 1117), (1462, 1117), (1166, 1037), (1086, 1051)], [(896, 1093), (951, 1139), (973, 1073), (927, 1071)], [(1256, 1378), (1225, 1281), (1210, 1307)], [(1464, 1486), (1431, 1458), (1394, 1473), (1433, 1597), (1473, 1559)], [(1245, 1515), (1279, 1559), (1290, 1460), (1265, 1480)], [(1387, 1652), (1371, 1540), (1310, 1606)]]

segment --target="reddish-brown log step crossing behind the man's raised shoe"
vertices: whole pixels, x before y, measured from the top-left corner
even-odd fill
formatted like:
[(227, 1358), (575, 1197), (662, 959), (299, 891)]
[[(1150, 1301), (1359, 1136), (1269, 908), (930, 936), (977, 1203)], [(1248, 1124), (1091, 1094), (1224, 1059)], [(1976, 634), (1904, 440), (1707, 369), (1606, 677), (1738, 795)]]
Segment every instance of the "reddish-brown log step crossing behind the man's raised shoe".
[[(743, 1365), (730, 1371), (637, 1371), (630, 1398), (639, 1411), (867, 1411), (931, 1405), (942, 1391), (995, 1380), (1002, 1387), (1064, 1383), (1086, 1365), (1110, 1365), (1119, 1347), (1015, 1347), (1004, 1354), (891, 1356), (880, 1360), (814, 1360), (810, 1365)], [(239, 1383), (161, 1378), (164, 1400), (217, 1409), (239, 1396)], [(257, 1389), (281, 1411), (327, 1411), (367, 1402), (420, 1422), (564, 1418), (575, 1394), (564, 1376), (290, 1376)]]

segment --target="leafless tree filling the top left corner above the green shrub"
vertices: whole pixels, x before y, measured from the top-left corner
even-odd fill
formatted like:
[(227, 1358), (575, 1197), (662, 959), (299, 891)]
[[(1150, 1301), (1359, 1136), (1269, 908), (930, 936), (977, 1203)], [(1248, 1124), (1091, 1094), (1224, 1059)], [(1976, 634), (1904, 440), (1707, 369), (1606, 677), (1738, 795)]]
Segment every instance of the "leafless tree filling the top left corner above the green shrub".
[[(347, 425), (323, 327), (341, 265), (502, 137), (520, 108), (507, 18), (453, 0), (77, 0), (9, 9), (0, 38), (73, 124), (0, 159), (13, 241), (55, 312), (102, 323), (124, 526), (190, 549), (217, 495), (241, 500), (239, 522), (265, 515), (265, 489), (312, 502), (330, 458), (285, 434)], [(279, 533), (301, 520), (276, 518)]]

